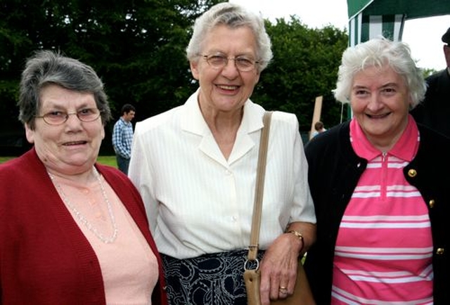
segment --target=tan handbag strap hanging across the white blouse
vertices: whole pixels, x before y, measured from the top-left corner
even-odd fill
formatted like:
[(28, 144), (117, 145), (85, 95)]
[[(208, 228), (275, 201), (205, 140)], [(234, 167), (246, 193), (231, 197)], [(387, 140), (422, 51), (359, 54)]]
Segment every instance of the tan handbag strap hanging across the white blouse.
[(272, 111), (264, 112), (262, 117), (261, 139), (259, 141), (258, 165), (256, 174), (255, 202), (253, 204), (252, 231), (248, 247), (248, 261), (255, 261), (258, 254), (259, 227), (261, 226), (262, 195), (264, 194), (264, 176), (266, 174), (267, 145), (269, 144), (269, 129)]

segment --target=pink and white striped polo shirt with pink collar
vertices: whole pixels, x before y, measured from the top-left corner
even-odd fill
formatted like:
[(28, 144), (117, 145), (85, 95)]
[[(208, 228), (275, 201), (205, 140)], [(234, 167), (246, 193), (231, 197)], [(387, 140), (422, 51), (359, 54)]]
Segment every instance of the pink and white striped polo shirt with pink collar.
[(418, 150), (416, 122), (383, 154), (350, 124), (352, 147), (368, 160), (340, 223), (332, 304), (432, 304), (428, 208), (403, 169)]

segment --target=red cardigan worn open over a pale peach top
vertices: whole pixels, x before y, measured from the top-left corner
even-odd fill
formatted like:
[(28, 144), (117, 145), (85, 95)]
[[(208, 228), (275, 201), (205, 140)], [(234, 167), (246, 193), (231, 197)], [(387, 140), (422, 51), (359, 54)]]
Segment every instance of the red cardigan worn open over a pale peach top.
[[(153, 305), (166, 305), (162, 262), (127, 176), (96, 164), (158, 259)], [(117, 266), (120, 268), (120, 266)], [(32, 148), (0, 165), (0, 304), (105, 304), (98, 259)]]

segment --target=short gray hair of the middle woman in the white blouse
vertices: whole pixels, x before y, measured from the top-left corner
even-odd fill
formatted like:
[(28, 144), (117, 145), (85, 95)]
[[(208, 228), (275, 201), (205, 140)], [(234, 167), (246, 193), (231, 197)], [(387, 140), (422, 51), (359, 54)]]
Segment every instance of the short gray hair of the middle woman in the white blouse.
[(207, 33), (219, 25), (226, 25), (230, 28), (249, 27), (257, 41), (258, 71), (261, 72), (269, 65), (273, 53), (269, 35), (264, 27), (264, 19), (238, 4), (229, 2), (222, 2), (212, 6), (209, 11), (206, 11), (195, 20), (191, 41), (189, 41), (186, 48), (188, 60), (198, 60), (202, 53), (203, 40)]

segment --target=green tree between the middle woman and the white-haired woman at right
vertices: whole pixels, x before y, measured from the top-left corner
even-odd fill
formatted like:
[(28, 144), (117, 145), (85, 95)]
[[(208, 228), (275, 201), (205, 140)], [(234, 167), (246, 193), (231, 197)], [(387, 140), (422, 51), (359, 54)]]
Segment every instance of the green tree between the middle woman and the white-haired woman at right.
[(295, 17), (275, 24), (266, 22), (274, 60), (262, 72), (252, 97), (265, 108), (293, 112), (300, 130), (308, 131), (317, 96), (323, 96), (322, 120), (327, 126), (340, 122), (340, 103), (332, 91), (338, 75), (347, 34), (333, 26), (311, 29)]

